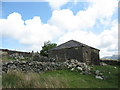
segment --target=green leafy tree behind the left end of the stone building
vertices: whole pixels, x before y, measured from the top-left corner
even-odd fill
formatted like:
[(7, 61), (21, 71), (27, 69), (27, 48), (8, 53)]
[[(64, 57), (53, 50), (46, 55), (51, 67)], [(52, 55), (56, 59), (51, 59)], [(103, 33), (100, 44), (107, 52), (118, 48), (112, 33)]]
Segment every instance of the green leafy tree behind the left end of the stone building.
[(44, 46), (42, 46), (40, 55), (48, 57), (48, 50), (55, 48), (56, 46), (57, 46), (56, 43), (51, 43), (50, 41), (44, 42)]

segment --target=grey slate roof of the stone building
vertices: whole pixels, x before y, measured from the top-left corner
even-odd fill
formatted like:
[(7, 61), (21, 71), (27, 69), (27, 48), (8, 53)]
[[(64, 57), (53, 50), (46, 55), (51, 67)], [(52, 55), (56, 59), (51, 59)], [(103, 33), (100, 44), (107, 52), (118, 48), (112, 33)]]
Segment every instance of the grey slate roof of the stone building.
[[(51, 50), (59, 50), (59, 49), (64, 49), (64, 48), (71, 48), (71, 47), (78, 47), (78, 46), (88, 46), (88, 45), (85, 45), (83, 43), (80, 43), (78, 41), (75, 41), (75, 40), (70, 40), (70, 41), (67, 41)], [(93, 48), (91, 46), (88, 46), (90, 48)], [(93, 49), (96, 49), (96, 48), (93, 48)], [(96, 50), (99, 50), (99, 49), (96, 49)]]

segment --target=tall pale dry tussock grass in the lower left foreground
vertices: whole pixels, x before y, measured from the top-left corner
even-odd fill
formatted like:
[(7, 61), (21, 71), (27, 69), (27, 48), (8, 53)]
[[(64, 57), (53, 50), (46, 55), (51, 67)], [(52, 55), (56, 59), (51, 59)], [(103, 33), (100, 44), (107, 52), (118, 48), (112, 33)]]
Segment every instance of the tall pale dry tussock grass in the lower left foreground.
[(3, 88), (63, 88), (67, 87), (65, 78), (44, 77), (43, 74), (9, 71), (2, 77)]

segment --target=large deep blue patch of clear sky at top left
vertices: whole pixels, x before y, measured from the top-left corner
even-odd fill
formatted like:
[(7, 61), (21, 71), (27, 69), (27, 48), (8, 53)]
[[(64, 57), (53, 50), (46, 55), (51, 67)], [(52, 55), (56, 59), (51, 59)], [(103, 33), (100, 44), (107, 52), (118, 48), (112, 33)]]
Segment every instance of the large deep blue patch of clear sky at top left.
[(23, 20), (40, 16), (43, 23), (47, 22), (52, 13), (48, 2), (3, 2), (2, 11), (3, 18), (7, 18), (13, 12), (18, 12)]

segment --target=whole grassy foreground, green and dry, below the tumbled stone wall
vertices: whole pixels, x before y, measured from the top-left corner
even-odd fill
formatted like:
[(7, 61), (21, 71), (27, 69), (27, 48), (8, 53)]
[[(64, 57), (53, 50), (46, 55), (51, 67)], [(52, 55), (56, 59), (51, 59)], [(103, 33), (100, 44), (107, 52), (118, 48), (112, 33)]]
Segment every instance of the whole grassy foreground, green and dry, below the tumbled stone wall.
[(118, 69), (114, 66), (94, 66), (93, 69), (103, 72), (107, 76), (106, 80), (70, 70), (41, 74), (10, 71), (3, 74), (2, 85), (4, 88), (118, 88)]

